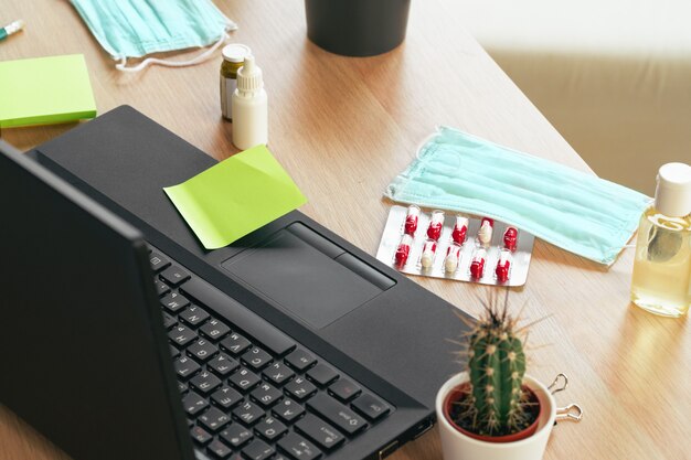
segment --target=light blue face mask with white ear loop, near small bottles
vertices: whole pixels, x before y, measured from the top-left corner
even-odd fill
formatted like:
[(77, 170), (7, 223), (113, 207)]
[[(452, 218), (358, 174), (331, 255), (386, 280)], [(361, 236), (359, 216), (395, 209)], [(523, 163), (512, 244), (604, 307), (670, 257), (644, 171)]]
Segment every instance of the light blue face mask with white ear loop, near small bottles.
[[(209, 57), (237, 29), (211, 0), (72, 0), (98, 43), (120, 62), (118, 71), (138, 72), (150, 64), (193, 65)], [(142, 57), (189, 47), (214, 45), (191, 61), (147, 58), (127, 67), (128, 57)]]

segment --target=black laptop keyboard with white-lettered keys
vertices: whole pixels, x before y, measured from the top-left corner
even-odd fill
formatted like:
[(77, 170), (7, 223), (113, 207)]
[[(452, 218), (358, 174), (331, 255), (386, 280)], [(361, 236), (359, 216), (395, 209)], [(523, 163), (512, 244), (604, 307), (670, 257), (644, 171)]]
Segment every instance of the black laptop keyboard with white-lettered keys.
[(209, 458), (319, 459), (393, 410), (160, 252), (149, 260), (190, 434)]

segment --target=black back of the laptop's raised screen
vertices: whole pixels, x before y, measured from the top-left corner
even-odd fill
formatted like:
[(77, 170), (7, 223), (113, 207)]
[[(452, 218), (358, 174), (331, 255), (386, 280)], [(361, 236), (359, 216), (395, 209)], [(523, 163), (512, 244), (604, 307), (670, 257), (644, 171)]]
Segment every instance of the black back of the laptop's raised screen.
[(137, 231), (0, 141), (0, 404), (77, 460), (193, 458)]

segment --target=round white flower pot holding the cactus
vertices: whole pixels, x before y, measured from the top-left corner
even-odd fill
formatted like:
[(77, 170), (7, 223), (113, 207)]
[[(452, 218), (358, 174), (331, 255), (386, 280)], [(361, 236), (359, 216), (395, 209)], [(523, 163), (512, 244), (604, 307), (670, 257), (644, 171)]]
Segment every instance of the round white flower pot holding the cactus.
[(449, 378), (437, 393), (437, 425), (442, 437), (442, 451), (445, 460), (540, 460), (548, 446), (548, 439), (554, 426), (556, 405), (552, 394), (540, 382), (530, 376), (523, 378), (540, 400), (541, 411), (536, 431), (524, 439), (513, 442), (488, 442), (470, 438), (458, 431), (444, 415), (447, 395), (458, 385), (468, 381), (468, 373), (463, 372)]

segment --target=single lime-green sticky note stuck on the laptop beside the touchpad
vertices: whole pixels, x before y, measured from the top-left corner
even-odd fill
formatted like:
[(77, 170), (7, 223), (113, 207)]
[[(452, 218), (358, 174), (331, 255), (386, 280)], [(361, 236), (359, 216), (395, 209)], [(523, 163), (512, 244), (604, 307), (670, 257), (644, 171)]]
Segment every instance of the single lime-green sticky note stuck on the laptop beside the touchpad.
[(307, 203), (265, 146), (163, 189), (206, 249), (217, 249)]

